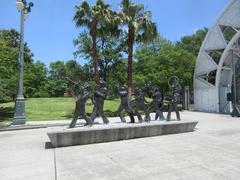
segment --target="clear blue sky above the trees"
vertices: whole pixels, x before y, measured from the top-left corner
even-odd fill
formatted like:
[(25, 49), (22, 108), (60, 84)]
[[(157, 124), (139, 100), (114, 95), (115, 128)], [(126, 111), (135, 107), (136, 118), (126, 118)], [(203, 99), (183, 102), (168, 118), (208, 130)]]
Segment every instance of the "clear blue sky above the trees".
[[(25, 41), (34, 54), (34, 60), (46, 65), (56, 60), (74, 59), (73, 46), (80, 30), (75, 27), (75, 5), (82, 0), (32, 0), (34, 7), (25, 21)], [(119, 9), (121, 0), (105, 0), (113, 9)], [(29, 0), (28, 0), (29, 2)], [(95, 0), (88, 0), (94, 3)], [(157, 23), (158, 32), (171, 41), (191, 35), (197, 29), (211, 27), (230, 0), (132, 0), (144, 4)], [(20, 29), (20, 13), (16, 0), (0, 0), (0, 29)], [(78, 59), (80, 64), (86, 63)]]

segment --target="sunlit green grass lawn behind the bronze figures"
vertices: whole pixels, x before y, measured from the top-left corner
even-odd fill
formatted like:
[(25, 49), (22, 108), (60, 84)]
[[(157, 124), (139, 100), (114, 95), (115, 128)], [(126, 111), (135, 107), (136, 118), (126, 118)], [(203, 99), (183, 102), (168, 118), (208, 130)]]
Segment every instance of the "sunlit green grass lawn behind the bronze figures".
[[(148, 102), (151, 99), (147, 99)], [(106, 100), (104, 111), (108, 117), (117, 116), (119, 99)], [(75, 108), (75, 98), (29, 98), (26, 99), (26, 120), (64, 120), (71, 119)], [(164, 103), (166, 109), (167, 103)], [(179, 106), (180, 107), (180, 106)], [(88, 115), (92, 112), (91, 100), (86, 103)], [(180, 107), (181, 108), (181, 107)], [(14, 114), (14, 102), (0, 104), (0, 122), (12, 121)]]

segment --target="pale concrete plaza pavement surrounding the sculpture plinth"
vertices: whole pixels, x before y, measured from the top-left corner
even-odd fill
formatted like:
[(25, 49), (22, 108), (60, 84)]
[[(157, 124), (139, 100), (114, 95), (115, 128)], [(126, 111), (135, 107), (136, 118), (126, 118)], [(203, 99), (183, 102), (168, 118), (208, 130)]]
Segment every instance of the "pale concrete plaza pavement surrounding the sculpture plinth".
[(0, 132), (1, 180), (240, 179), (240, 119), (183, 112), (195, 132), (45, 149), (46, 129)]

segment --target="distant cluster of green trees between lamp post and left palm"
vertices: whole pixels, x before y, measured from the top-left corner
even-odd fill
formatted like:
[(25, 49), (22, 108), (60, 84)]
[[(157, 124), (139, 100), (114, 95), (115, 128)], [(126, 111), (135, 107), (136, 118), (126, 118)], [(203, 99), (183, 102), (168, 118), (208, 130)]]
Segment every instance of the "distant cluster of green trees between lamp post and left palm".
[(69, 60), (66, 64), (63, 61), (52, 62), (49, 70), (43, 63), (36, 62), (26, 73), (29, 97), (62, 97), (69, 91), (65, 77), (75, 81), (79, 80), (79, 77), (85, 77), (81, 66), (75, 60)]

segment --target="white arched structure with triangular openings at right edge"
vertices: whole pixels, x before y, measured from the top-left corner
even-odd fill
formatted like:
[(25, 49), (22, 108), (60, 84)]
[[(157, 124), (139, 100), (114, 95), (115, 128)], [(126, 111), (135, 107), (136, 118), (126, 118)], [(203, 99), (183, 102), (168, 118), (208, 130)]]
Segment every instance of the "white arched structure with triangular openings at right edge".
[(195, 110), (230, 113), (233, 62), (240, 60), (240, 0), (232, 0), (209, 30), (194, 72)]

